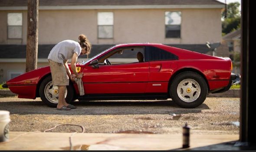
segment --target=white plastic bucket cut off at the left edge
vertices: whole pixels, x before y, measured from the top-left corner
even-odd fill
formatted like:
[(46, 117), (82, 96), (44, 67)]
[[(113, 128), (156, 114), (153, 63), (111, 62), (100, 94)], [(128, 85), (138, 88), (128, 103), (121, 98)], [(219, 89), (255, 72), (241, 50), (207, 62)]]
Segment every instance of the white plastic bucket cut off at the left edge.
[(0, 110), (0, 142), (9, 139), (10, 112)]

